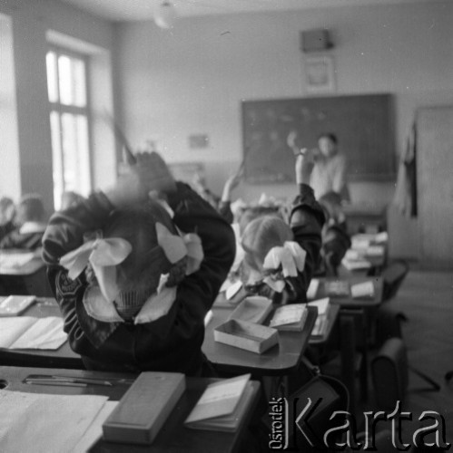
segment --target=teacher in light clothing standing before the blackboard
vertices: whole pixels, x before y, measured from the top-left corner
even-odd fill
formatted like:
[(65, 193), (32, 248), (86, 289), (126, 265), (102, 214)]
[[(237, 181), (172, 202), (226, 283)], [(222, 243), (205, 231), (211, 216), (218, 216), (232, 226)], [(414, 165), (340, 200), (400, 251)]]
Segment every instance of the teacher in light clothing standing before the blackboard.
[[(288, 146), (297, 155), (301, 149), (296, 145), (297, 132), (290, 132)], [(336, 192), (344, 201), (350, 200), (347, 183), (347, 160), (340, 152), (337, 136), (322, 133), (318, 137), (318, 149), (314, 150), (315, 165), (311, 173), (310, 186), (319, 199), (329, 192)]]

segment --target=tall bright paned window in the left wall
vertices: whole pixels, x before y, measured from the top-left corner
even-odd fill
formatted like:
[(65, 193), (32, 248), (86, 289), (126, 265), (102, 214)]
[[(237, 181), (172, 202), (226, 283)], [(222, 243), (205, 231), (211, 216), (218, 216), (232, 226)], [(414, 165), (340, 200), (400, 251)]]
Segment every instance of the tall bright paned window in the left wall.
[(52, 134), (54, 207), (66, 191), (91, 190), (87, 60), (52, 48), (46, 56)]

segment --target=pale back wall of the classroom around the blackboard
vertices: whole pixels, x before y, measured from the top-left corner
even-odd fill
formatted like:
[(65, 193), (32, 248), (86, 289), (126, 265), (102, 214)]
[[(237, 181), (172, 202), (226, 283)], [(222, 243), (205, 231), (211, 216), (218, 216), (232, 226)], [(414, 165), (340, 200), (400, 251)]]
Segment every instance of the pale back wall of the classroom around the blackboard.
[[(135, 146), (157, 139), (169, 161), (205, 161), (217, 191), (241, 161), (241, 100), (306, 95), (299, 34), (326, 27), (335, 48), (337, 94), (390, 92), (399, 149), (420, 105), (453, 101), (453, 4), (364, 5), (297, 12), (182, 18), (170, 31), (153, 23), (116, 29), (118, 100)], [(206, 133), (208, 149), (189, 149)], [(397, 150), (398, 151), (398, 150)], [(389, 203), (394, 183), (351, 185), (355, 203)], [(288, 186), (249, 186), (293, 192)], [(393, 255), (417, 255), (417, 222), (390, 209)]]

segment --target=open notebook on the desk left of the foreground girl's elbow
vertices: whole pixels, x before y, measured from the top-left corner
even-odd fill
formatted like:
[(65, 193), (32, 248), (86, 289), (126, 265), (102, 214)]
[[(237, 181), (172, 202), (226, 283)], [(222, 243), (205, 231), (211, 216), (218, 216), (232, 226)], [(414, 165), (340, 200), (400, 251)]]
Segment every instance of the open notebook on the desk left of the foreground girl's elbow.
[(62, 318), (56, 316), (0, 318), (0, 348), (56, 350), (66, 340)]

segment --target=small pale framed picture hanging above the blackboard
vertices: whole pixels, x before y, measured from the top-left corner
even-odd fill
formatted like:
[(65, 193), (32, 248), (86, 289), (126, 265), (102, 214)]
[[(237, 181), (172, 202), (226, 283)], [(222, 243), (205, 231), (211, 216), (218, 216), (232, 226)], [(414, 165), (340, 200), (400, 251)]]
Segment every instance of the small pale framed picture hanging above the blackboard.
[(325, 93), (335, 91), (335, 65), (330, 55), (308, 56), (304, 60), (305, 86), (307, 92)]

